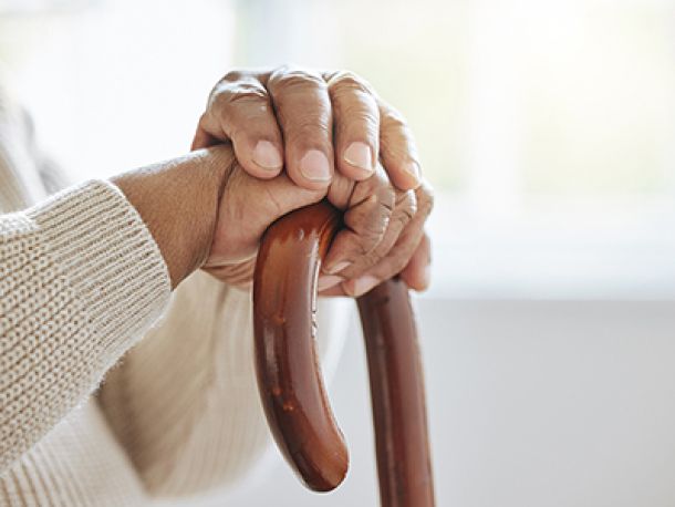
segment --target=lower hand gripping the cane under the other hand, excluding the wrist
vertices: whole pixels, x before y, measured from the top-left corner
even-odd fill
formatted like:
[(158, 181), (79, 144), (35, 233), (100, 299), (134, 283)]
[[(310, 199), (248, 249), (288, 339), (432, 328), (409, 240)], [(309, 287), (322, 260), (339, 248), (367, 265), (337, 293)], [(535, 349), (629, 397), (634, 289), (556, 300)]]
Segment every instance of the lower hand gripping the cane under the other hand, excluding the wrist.
[(345, 210), (346, 228), (336, 235), (325, 259), (320, 293), (361, 296), (402, 270), (408, 286), (425, 288), (417, 283), (428, 281), (424, 272), (428, 242), (422, 238), (432, 208), (430, 193), (426, 185), (415, 192), (397, 190), (382, 166), (363, 182), (336, 176), (326, 190), (309, 190), (284, 173), (262, 180), (233, 164), (226, 176), (204, 269), (228, 283), (249, 286), (264, 230), (287, 213), (324, 197)]

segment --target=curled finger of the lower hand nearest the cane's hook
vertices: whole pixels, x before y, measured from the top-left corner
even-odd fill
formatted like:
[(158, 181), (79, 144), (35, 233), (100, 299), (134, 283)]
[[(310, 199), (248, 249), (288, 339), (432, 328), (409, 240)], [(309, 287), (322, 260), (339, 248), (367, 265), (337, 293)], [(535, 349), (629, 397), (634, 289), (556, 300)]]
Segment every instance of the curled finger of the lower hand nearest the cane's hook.
[(382, 166), (373, 177), (354, 186), (343, 215), (344, 228), (335, 236), (324, 259), (326, 275), (345, 270), (377, 247), (387, 230), (395, 199), (395, 190)]

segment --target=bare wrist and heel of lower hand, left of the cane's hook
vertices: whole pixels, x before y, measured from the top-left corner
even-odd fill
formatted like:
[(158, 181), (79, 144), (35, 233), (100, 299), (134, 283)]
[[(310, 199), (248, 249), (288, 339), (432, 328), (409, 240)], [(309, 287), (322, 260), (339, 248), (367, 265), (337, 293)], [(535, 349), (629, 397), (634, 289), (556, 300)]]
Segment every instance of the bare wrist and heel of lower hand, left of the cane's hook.
[[(159, 247), (172, 288), (205, 267), (232, 283), (250, 281), (264, 230), (287, 213), (318, 203), (285, 175), (249, 176), (231, 145), (222, 144), (112, 178), (136, 208)], [(247, 279), (239, 272), (250, 268)]]

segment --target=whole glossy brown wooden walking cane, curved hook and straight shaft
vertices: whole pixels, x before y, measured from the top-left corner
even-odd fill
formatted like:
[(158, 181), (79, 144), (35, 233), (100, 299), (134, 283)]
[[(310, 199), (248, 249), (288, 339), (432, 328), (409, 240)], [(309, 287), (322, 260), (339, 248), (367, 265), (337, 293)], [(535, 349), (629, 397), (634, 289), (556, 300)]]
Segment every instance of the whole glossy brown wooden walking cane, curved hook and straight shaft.
[[(315, 350), (316, 280), (341, 227), (326, 201), (295, 210), (266, 231), (253, 277), (258, 386), (268, 423), (304, 484), (329, 492), (349, 456)], [(371, 381), (382, 507), (433, 507), (424, 381), (405, 283), (383, 282), (357, 300)]]

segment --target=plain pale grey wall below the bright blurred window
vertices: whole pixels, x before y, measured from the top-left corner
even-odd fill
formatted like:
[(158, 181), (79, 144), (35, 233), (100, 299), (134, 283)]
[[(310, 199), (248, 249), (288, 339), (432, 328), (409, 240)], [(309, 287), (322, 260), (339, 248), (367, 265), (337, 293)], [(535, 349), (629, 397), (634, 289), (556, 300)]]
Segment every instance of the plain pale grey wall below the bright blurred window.
[[(675, 506), (672, 302), (420, 300), (439, 507)], [(214, 505), (376, 506), (361, 339), (332, 401), (352, 454), (334, 493), (277, 457)]]

